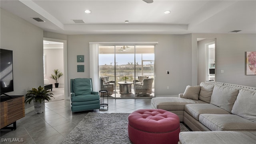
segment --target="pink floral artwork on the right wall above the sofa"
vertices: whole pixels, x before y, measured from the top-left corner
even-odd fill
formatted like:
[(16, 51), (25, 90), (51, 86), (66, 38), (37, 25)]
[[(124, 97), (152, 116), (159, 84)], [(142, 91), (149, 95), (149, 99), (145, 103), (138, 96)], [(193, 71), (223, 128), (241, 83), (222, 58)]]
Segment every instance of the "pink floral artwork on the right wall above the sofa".
[(256, 51), (246, 52), (246, 75), (256, 75)]

